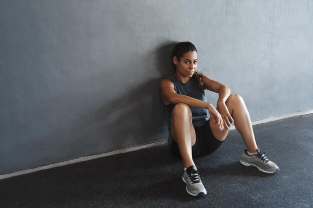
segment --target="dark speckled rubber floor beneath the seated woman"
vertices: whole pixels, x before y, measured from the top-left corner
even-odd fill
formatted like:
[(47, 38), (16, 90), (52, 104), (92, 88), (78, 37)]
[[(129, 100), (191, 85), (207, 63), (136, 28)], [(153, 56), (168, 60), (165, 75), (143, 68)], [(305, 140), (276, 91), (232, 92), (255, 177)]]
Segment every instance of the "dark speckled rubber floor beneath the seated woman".
[(166, 145), (0, 180), (1, 208), (312, 208), (313, 114), (253, 126), (258, 147), (280, 171), (239, 163), (234, 130), (213, 154), (194, 160), (207, 190), (185, 191), (183, 166)]

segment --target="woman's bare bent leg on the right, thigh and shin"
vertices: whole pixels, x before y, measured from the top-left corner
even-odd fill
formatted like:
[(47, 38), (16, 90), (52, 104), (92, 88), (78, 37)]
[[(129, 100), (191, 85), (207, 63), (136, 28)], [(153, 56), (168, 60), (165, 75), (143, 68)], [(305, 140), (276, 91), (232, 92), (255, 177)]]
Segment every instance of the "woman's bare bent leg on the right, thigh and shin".
[[(243, 99), (239, 95), (231, 94), (226, 100), (225, 104), (228, 108), (229, 114), (234, 120), (234, 125), (237, 131), (240, 133), (247, 150), (250, 153), (256, 152), (257, 146), (255, 143), (250, 116)], [(216, 139), (222, 141), (226, 138), (229, 130), (224, 129), (220, 131), (214, 124), (213, 120), (210, 120), (209, 125)]]

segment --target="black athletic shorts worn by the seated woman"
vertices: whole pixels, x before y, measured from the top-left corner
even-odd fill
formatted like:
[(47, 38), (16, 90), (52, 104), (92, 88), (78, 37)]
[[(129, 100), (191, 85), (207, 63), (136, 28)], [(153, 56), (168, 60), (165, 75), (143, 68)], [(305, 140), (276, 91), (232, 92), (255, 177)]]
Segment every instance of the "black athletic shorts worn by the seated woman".
[[(209, 121), (204, 126), (195, 127), (196, 140), (192, 146), (192, 157), (208, 155), (215, 152), (223, 141), (217, 140), (210, 129)], [(178, 145), (173, 139), (170, 131), (168, 135), (168, 147), (170, 151), (177, 156), (180, 156)]]

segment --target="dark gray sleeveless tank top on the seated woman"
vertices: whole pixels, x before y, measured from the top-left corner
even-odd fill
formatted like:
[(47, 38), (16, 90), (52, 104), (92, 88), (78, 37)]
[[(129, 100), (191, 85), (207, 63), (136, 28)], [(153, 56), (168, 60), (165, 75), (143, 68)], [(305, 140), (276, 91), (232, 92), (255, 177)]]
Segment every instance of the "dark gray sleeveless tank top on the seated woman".
[[(200, 91), (198, 88), (196, 81), (193, 77), (190, 78), (189, 82), (182, 83), (178, 81), (175, 77), (175, 75), (171, 75), (169, 77), (166, 77), (166, 79), (169, 79), (174, 84), (174, 90), (177, 94), (180, 95), (187, 95), (189, 97), (202, 100), (204, 102), (207, 102), (204, 90)], [(171, 112), (174, 108), (174, 104), (170, 103), (168, 105), (164, 105), (165, 107), (165, 115), (167, 120), (167, 127), (170, 129), (171, 125)], [(192, 113), (192, 125), (193, 127), (199, 127), (203, 126), (205, 122), (208, 120), (208, 111), (206, 108), (194, 108), (190, 107), (191, 113)]]

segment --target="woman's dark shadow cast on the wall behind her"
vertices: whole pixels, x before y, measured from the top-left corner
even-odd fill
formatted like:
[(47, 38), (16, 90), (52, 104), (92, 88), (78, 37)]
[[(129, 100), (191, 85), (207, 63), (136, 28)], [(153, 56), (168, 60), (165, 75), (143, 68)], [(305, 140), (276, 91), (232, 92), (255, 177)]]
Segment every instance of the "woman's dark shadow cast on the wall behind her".
[[(146, 54), (155, 61), (158, 77), (145, 80), (121, 97), (82, 115), (65, 131), (76, 131), (73, 149), (80, 156), (109, 152), (166, 139), (168, 136), (159, 83), (173, 73), (172, 48), (176, 42), (160, 44)], [(143, 57), (146, 58), (146, 57)], [(78, 125), (77, 125), (78, 124)], [(91, 142), (90, 142), (91, 141)], [(95, 143), (98, 144), (95, 147)], [(91, 152), (90, 152), (91, 150)]]

